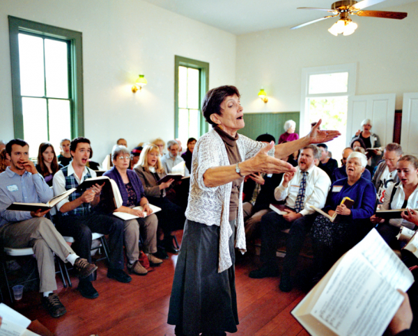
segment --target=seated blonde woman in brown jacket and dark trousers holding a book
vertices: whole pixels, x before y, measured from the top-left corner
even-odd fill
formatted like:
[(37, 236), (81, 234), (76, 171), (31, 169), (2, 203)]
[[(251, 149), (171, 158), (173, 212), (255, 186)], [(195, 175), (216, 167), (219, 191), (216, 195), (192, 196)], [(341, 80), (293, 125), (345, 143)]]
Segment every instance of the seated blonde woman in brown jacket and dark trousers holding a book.
[[(185, 225), (185, 213), (173, 202), (167, 200), (166, 191), (173, 183), (173, 179), (158, 184), (157, 182), (166, 176), (164, 168), (160, 161), (160, 150), (157, 145), (150, 143), (145, 145), (141, 152), (139, 162), (134, 168), (144, 185), (145, 195), (152, 205), (160, 207), (162, 211), (157, 212), (158, 224), (164, 232), (164, 241), (162, 246), (170, 253), (178, 253), (177, 248), (173, 246), (173, 236), (171, 232), (174, 230), (182, 230)], [(159, 257), (167, 259), (167, 253), (163, 249), (159, 251)]]

